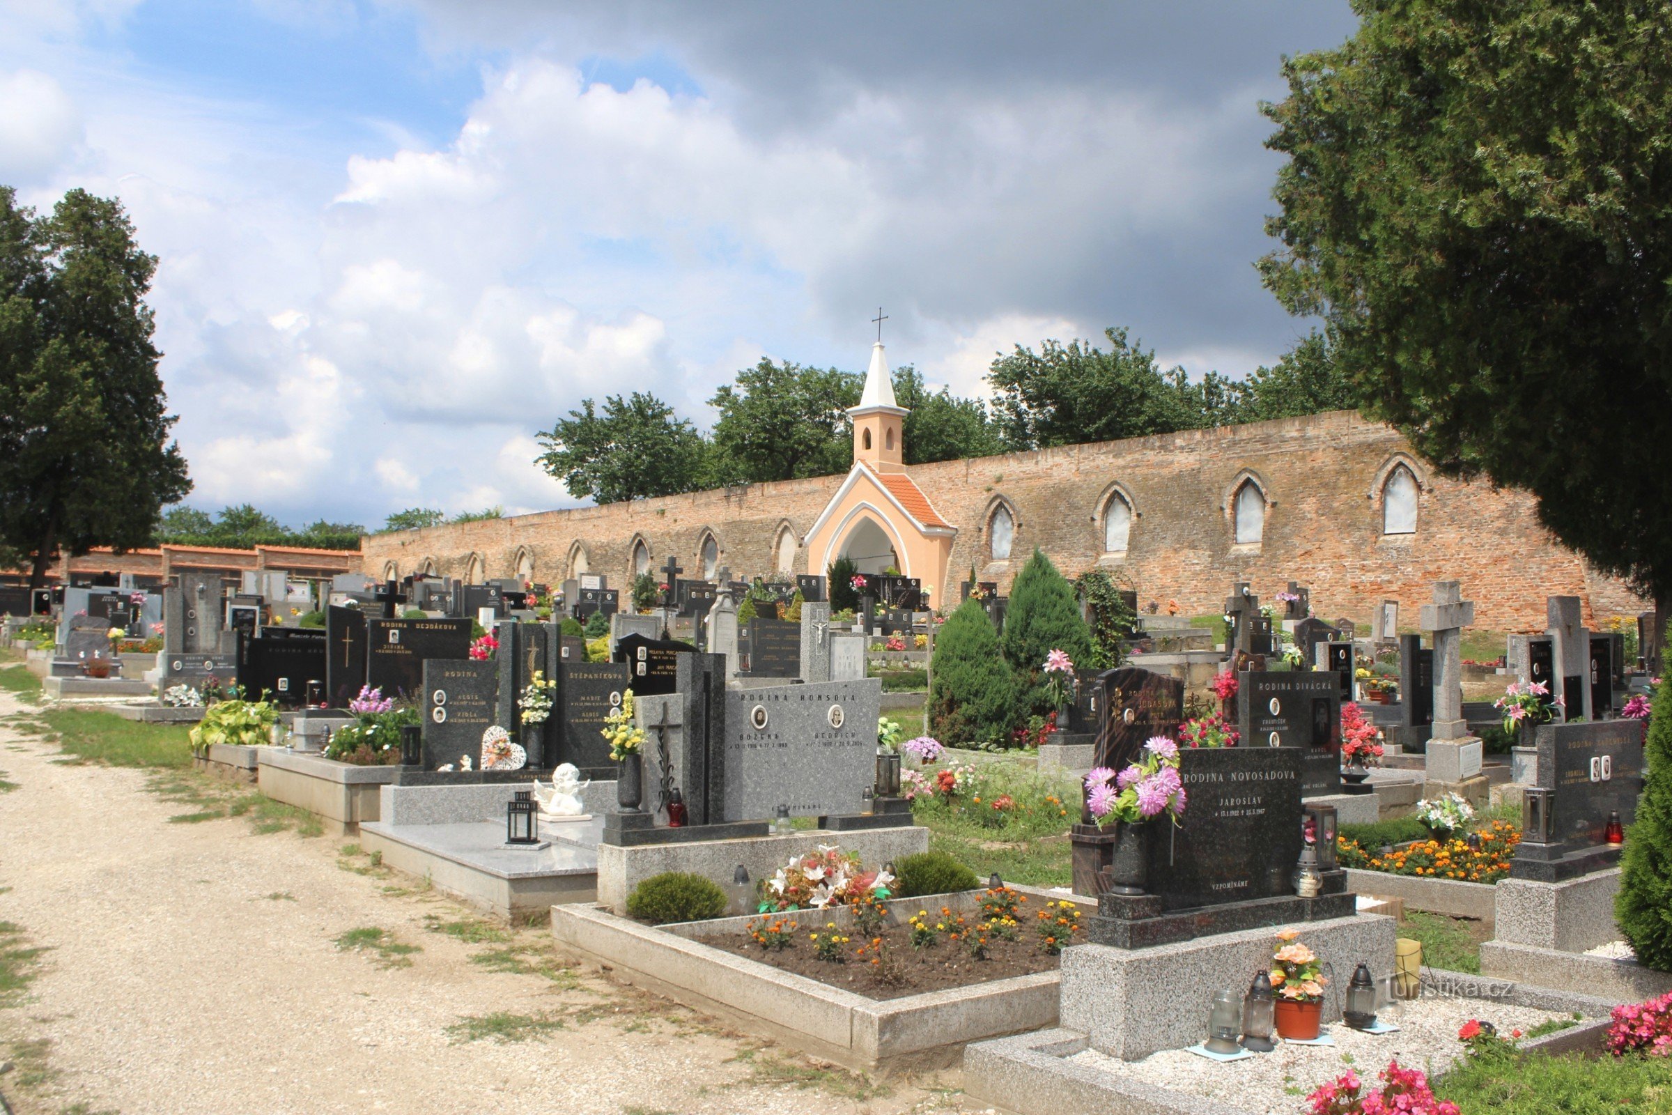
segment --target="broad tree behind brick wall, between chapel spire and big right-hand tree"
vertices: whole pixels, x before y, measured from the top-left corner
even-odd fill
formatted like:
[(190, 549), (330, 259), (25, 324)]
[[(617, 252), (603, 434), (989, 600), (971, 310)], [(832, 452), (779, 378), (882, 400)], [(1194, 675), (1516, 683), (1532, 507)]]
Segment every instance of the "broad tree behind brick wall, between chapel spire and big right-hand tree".
[(1234, 420), (1236, 384), (1219, 373), (1192, 383), (1182, 368), (1162, 371), (1155, 353), (1104, 331), (1109, 348), (1090, 341), (1020, 344), (993, 361), (993, 416), (1015, 450), (1080, 441), (1115, 441)]

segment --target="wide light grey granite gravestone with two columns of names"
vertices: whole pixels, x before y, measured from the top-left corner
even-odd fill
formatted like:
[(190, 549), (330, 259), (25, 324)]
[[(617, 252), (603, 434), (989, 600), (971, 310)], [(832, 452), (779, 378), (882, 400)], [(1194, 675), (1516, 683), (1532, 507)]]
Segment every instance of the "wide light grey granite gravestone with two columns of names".
[(791, 816), (861, 812), (876, 782), (881, 695), (876, 679), (729, 690), (719, 819), (759, 821), (779, 806)]

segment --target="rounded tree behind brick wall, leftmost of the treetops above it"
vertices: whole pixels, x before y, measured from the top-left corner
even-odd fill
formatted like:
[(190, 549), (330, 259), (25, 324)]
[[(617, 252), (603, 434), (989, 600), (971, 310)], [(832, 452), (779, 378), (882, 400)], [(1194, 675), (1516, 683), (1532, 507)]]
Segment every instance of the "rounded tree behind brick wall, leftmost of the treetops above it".
[(602, 413), (582, 400), (580, 410), (540, 435), (540, 445), (545, 453), (535, 463), (570, 495), (597, 503), (701, 491), (712, 478), (709, 448), (691, 420), (640, 391), (607, 396)]

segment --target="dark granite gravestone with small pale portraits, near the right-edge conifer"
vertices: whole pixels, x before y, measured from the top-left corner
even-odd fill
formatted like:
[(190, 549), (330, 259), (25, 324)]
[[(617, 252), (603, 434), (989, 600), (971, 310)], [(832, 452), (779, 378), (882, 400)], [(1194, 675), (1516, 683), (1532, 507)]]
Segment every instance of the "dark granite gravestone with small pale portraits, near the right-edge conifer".
[(1510, 874), (1555, 881), (1608, 866), (1608, 816), (1630, 826), (1644, 789), (1644, 720), (1540, 724), (1533, 741), (1538, 782)]

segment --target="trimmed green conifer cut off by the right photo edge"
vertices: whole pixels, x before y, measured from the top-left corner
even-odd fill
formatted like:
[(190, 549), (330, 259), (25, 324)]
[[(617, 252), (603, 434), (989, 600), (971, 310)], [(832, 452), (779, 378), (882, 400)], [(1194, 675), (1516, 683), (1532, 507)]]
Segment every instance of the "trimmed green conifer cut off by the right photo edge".
[[(1672, 637), (1662, 644), (1660, 675), (1672, 670)], [(1613, 919), (1637, 960), (1672, 971), (1672, 692), (1659, 694), (1644, 742), (1644, 792), (1625, 831)]]

